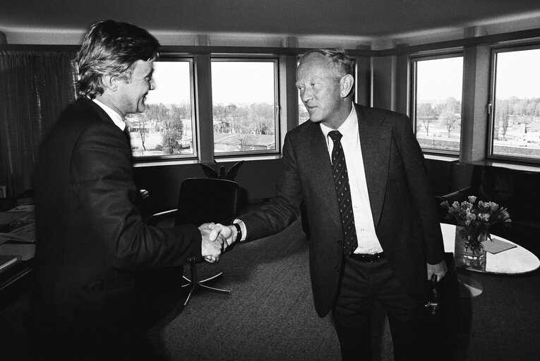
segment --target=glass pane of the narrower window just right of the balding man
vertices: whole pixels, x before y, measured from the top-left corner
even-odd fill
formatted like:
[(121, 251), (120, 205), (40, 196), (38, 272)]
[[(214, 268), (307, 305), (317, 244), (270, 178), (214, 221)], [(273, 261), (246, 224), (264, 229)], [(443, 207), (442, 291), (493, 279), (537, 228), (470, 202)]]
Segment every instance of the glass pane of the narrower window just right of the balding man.
[(460, 152), (463, 57), (416, 61), (416, 139), (431, 152)]

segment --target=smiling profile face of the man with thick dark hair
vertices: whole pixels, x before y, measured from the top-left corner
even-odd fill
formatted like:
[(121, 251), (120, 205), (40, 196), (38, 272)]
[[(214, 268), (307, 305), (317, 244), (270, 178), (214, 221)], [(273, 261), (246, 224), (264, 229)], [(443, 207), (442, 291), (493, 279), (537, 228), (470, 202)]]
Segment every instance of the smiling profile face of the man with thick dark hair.
[(138, 60), (133, 64), (133, 72), (128, 82), (119, 82), (119, 110), (125, 114), (142, 113), (146, 109), (145, 97), (154, 89), (152, 73), (154, 61)]

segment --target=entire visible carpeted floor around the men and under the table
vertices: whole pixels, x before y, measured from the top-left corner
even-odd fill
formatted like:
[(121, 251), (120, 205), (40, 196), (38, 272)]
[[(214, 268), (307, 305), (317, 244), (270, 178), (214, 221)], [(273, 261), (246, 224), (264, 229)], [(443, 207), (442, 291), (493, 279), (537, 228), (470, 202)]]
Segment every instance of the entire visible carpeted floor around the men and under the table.
[[(154, 326), (148, 336), (163, 360), (340, 360), (330, 317), (320, 319), (313, 308), (308, 243), (299, 223), (280, 235), (235, 245), (218, 264), (198, 270), (201, 279), (223, 271), (215, 286), (232, 294), (197, 293), (186, 310), (177, 307)], [(460, 300), (455, 360), (540, 360), (540, 271), (458, 273), (481, 283), (484, 293)], [(0, 312), (0, 360), (27, 360), (17, 318), (27, 300), (25, 293)], [(377, 314), (373, 333), (376, 360), (391, 361), (383, 314)]]

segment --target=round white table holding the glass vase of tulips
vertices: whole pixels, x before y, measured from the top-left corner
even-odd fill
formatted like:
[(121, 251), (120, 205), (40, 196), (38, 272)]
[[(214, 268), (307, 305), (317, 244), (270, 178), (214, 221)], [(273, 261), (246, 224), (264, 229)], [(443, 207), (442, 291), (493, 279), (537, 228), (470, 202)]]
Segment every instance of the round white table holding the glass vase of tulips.
[[(440, 230), (443, 232), (443, 241), (445, 244), (445, 252), (455, 253), (455, 232), (456, 226), (452, 224), (440, 224)], [(485, 269), (474, 269), (472, 267), (462, 267), (469, 271), (488, 273), (488, 274), (526, 274), (540, 267), (540, 260), (532, 252), (524, 247), (513, 243), (510, 240), (491, 235), (491, 238), (498, 238), (504, 242), (508, 242), (516, 247), (510, 250), (493, 255), (486, 252), (486, 267)], [(461, 262), (456, 262), (456, 266), (460, 267)], [(482, 293), (481, 283), (462, 274), (458, 275), (458, 279), (462, 286), (466, 288), (466, 292), (461, 292), (462, 297), (475, 297)], [(467, 295), (467, 292), (469, 293)]]

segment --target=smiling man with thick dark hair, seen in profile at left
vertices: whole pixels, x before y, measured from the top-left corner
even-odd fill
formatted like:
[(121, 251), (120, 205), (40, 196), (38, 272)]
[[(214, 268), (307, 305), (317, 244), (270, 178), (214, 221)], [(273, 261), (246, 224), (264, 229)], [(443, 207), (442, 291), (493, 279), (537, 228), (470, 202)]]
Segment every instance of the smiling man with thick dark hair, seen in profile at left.
[(146, 30), (95, 23), (76, 59), (79, 99), (42, 147), (29, 336), (38, 360), (136, 360), (135, 272), (220, 256), (203, 225), (148, 227), (136, 207), (125, 116), (145, 110), (160, 47)]

